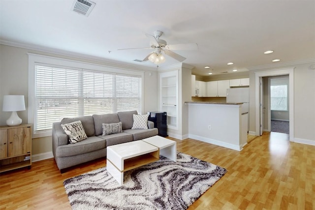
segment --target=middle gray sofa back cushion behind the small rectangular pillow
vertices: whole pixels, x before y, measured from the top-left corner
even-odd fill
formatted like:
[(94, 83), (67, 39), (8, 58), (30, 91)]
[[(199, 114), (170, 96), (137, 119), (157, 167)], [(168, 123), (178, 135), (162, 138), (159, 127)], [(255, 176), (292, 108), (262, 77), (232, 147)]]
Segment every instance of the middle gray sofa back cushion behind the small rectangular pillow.
[(102, 125), (103, 123), (117, 123), (120, 122), (118, 115), (116, 113), (103, 114), (103, 115), (92, 115), (94, 119), (95, 135), (99, 136), (103, 133)]

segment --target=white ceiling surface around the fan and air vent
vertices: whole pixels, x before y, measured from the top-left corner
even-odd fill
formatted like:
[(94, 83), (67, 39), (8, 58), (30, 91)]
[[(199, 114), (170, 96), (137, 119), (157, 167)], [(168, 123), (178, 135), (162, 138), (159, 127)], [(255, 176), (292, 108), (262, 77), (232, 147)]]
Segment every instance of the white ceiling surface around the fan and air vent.
[[(216, 75), (315, 58), (315, 0), (92, 1), (86, 17), (71, 11), (73, 0), (0, 0), (0, 41), (156, 68), (133, 61), (150, 49), (117, 49), (149, 47), (145, 33), (161, 30), (168, 44), (198, 44), (198, 51), (174, 51), (197, 75), (207, 75), (206, 65)], [(160, 67), (178, 63), (165, 58)]]

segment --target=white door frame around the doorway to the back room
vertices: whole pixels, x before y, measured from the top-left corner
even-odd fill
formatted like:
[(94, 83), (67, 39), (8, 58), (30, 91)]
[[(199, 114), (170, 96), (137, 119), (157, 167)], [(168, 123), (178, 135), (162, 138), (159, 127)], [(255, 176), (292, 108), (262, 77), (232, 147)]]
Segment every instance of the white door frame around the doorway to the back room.
[[(255, 72), (255, 134), (256, 136), (262, 135), (264, 127), (264, 117), (263, 117), (263, 77), (273, 77), (273, 76), (283, 76), (288, 75), (289, 77), (289, 139), (293, 141), (294, 137), (294, 120), (293, 120), (293, 110), (294, 110), (294, 68), (285, 68), (285, 69), (275, 69), (275, 70), (266, 70)], [(269, 113), (269, 112), (268, 112)], [(270, 118), (271, 119), (271, 116)], [(269, 121), (269, 120), (268, 120)], [(268, 122), (269, 124), (269, 122)], [(271, 129), (271, 120), (270, 120), (270, 129)]]

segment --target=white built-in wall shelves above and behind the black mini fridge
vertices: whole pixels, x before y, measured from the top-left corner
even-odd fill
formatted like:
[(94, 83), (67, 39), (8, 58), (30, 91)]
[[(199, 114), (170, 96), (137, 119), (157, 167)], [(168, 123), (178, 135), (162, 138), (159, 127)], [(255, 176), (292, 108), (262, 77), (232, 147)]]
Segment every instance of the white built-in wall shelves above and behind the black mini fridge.
[(167, 127), (178, 129), (178, 71), (159, 74), (160, 111), (167, 112)]

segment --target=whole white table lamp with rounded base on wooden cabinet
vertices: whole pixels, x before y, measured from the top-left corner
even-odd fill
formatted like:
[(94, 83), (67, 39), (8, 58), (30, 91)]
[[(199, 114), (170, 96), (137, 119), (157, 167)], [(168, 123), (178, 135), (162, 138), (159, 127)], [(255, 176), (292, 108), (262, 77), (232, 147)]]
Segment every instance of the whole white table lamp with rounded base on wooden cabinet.
[(11, 117), (6, 120), (6, 124), (9, 126), (15, 126), (22, 123), (22, 119), (19, 118), (16, 111), (24, 111), (25, 102), (24, 95), (4, 95), (3, 96), (3, 112), (12, 112)]

